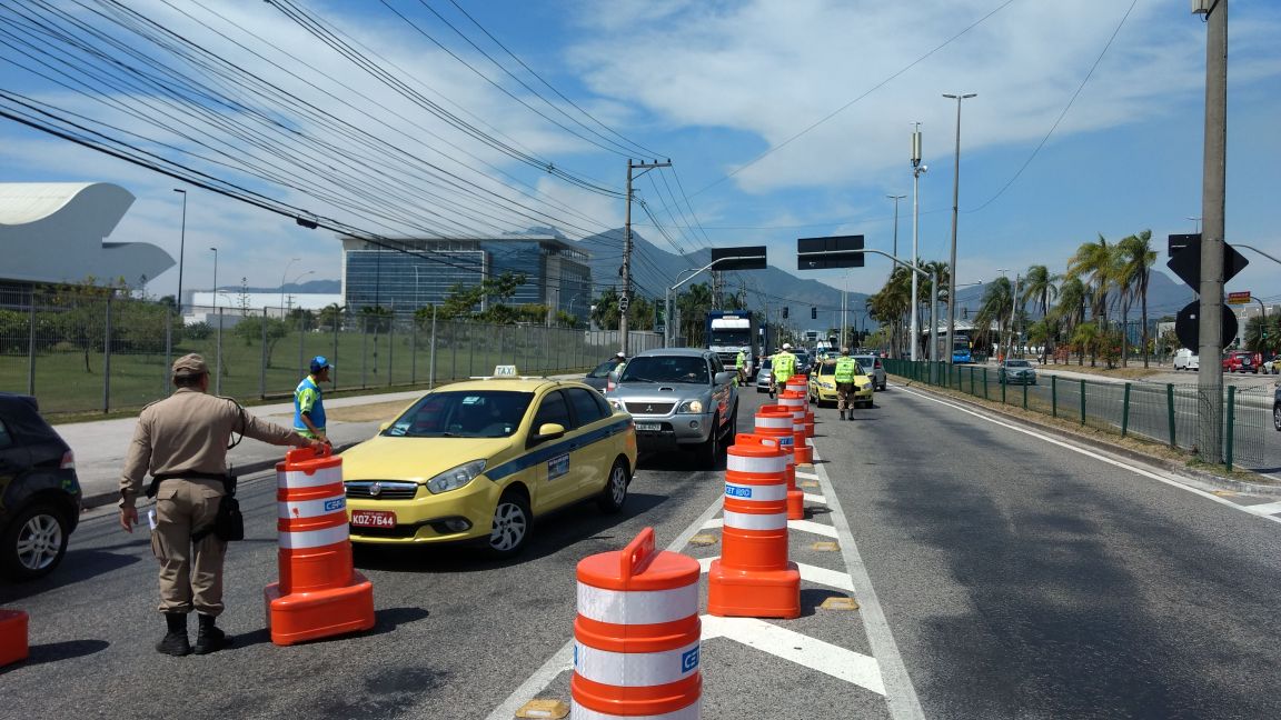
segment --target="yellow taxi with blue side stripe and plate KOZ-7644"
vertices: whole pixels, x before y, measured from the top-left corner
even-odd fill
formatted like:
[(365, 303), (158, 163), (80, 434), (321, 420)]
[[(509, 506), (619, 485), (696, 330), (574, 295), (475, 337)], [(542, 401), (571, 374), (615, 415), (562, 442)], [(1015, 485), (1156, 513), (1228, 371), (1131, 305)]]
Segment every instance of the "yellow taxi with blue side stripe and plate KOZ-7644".
[(498, 366), (424, 395), (342, 454), (351, 542), (473, 541), (511, 556), (544, 512), (589, 498), (617, 512), (635, 462), (632, 415), (600, 392)]

